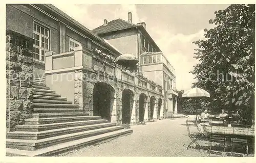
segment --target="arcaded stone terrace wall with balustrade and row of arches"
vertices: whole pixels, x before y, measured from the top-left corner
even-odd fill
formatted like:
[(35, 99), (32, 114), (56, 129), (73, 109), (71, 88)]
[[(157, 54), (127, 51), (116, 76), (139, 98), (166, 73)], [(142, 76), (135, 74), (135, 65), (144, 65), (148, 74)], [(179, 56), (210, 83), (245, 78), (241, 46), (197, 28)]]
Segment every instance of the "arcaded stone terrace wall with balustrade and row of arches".
[[(63, 61), (69, 64), (62, 65)], [(79, 46), (71, 52), (46, 53), (45, 74), (47, 86), (78, 104), (90, 116), (99, 115), (120, 124), (163, 117), (161, 87), (87, 48)], [(74, 82), (69, 78), (74, 78)]]

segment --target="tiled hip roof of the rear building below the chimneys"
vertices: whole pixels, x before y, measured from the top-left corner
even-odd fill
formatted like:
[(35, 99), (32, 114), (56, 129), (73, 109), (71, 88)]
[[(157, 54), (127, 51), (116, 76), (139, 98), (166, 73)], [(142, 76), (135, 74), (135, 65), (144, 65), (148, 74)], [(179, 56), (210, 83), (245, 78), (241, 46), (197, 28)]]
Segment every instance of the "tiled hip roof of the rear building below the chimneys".
[(109, 33), (124, 29), (129, 29), (136, 27), (137, 25), (130, 23), (128, 21), (122, 20), (122, 19), (116, 19), (108, 22), (106, 25), (101, 25), (97, 27), (96, 29), (93, 29), (92, 31), (96, 34), (103, 34), (103, 33)]

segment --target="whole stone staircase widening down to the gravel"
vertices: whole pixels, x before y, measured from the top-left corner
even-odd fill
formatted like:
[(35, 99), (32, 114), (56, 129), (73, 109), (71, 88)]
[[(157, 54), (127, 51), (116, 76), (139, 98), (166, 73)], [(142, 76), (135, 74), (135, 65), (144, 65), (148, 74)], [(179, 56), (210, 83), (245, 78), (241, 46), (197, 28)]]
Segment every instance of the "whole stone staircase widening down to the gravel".
[(33, 117), (7, 133), (6, 156), (52, 156), (133, 132), (88, 116), (43, 83), (33, 83)]

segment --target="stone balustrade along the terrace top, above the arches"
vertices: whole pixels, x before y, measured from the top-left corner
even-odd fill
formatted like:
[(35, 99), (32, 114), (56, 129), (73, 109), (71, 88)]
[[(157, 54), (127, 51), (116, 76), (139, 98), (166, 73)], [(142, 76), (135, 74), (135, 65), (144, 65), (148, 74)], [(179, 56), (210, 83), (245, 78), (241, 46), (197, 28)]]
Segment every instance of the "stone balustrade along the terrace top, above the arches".
[[(70, 72), (79, 69), (87, 69), (94, 72), (92, 74), (83, 74), (89, 80), (119, 80), (162, 94), (162, 88), (148, 82), (135, 72), (122, 69), (120, 65), (113, 61), (100, 58), (97, 54), (93, 54), (90, 49), (79, 46), (75, 48), (75, 51), (60, 54), (54, 52), (46, 53), (46, 74)], [(97, 75), (95, 75), (95, 72)]]

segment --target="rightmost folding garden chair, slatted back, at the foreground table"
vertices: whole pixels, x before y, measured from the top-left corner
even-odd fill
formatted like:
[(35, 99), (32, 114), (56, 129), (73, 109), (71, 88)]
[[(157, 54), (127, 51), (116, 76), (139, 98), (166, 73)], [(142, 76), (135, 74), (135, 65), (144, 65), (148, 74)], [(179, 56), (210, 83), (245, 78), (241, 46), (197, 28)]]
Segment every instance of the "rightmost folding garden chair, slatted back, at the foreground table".
[[(239, 144), (242, 145), (242, 149), (245, 149), (246, 151), (246, 156), (248, 157), (248, 153), (249, 153), (249, 145), (248, 145), (248, 138), (249, 138), (249, 128), (251, 127), (250, 125), (240, 125), (240, 124), (231, 124), (231, 126), (233, 127), (233, 135), (231, 138), (231, 156), (233, 153), (233, 148), (234, 148), (234, 144)], [(238, 137), (238, 135), (236, 136), (234, 134), (234, 129), (235, 128), (247, 128), (247, 137), (245, 138), (243, 137)], [(240, 149), (240, 148), (239, 148)]]

